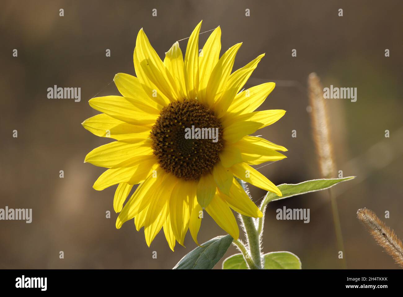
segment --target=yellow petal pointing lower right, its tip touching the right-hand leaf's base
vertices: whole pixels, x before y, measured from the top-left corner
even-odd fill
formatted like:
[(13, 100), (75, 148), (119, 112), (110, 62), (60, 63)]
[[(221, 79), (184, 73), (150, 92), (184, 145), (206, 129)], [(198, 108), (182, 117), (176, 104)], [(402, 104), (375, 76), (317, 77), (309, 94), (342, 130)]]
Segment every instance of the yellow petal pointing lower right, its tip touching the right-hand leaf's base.
[(247, 183), (250, 183), (256, 187), (260, 187), (263, 190), (273, 192), (278, 196), (283, 196), (271, 181), (269, 181), (262, 173), (254, 169), (253, 167), (249, 166), (245, 163), (235, 164), (231, 167), (232, 172)]

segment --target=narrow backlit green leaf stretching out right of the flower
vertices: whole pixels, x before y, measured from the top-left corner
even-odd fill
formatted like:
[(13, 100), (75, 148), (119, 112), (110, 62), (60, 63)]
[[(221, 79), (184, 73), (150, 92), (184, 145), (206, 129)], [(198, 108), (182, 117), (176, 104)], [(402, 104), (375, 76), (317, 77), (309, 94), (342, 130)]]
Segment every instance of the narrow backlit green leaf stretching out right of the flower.
[(292, 196), (310, 192), (326, 190), (336, 185), (337, 183), (348, 181), (353, 178), (355, 178), (355, 176), (343, 177), (338, 179), (314, 179), (312, 181), (303, 181), (302, 183), (297, 184), (283, 183), (277, 186), (280, 189), (281, 194), (283, 194), (283, 196), (279, 197), (272, 192), (267, 192), (266, 198), (264, 199), (262, 205), (267, 205), (270, 201), (289, 198)]

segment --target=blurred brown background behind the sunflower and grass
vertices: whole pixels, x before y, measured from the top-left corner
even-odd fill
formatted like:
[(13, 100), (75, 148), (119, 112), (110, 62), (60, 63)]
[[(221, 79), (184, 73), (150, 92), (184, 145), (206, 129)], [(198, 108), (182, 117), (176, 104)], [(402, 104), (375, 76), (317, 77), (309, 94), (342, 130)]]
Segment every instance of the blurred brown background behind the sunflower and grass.
[[(93, 190), (103, 169), (83, 163), (87, 152), (108, 139), (92, 135), (81, 122), (98, 113), (87, 104), (91, 97), (118, 95), (114, 74), (135, 74), (132, 55), (141, 27), (163, 58), (201, 19), (202, 32), (221, 26), (221, 53), (243, 42), (234, 70), (266, 53), (246, 87), (276, 82), (261, 109), (287, 110), (261, 133), (289, 149), (287, 159), (260, 169), (275, 184), (320, 177), (307, 112), (308, 74), (316, 72), (324, 86), (357, 87), (357, 102), (326, 101), (336, 170), (357, 175), (333, 191), (344, 255), (348, 268), (398, 268), (356, 212), (364, 206), (374, 210), (403, 236), (403, 2), (38, 0), (1, 1), (0, 6), (0, 208), (33, 209), (31, 224), (0, 221), (0, 268), (170, 269), (195, 248), (188, 234), (186, 249), (177, 245), (173, 253), (162, 232), (148, 248), (133, 221), (116, 230), (116, 186)], [(200, 35), (201, 46), (208, 34)], [(183, 50), (186, 42), (180, 42)], [(291, 57), (294, 48), (297, 57)], [(390, 57), (384, 56), (386, 48)], [(13, 49), (18, 57), (12, 57)], [(54, 84), (81, 87), (81, 101), (48, 99), (47, 88)], [(12, 137), (13, 130), (18, 138)], [(253, 186), (251, 193), (255, 202), (265, 194)], [(283, 206), (309, 208), (310, 223), (277, 221), (276, 209)], [(105, 217), (108, 210), (110, 219)], [(390, 211), (389, 219), (384, 219), (385, 211)], [(206, 215), (199, 241), (222, 234)], [(264, 251), (291, 251), (303, 268), (341, 268), (327, 191), (272, 202)], [(226, 256), (236, 252), (231, 247)]]

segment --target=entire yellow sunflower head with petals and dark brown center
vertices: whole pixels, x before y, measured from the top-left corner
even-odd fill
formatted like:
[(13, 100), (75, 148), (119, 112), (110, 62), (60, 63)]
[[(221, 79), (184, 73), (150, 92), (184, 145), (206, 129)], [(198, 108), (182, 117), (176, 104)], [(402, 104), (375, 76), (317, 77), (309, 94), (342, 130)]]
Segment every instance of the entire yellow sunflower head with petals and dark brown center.
[[(255, 111), (273, 90), (273, 82), (241, 91), (264, 54), (231, 73), (241, 43), (219, 57), (217, 27), (199, 53), (201, 25), (189, 38), (185, 59), (175, 42), (164, 61), (140, 29), (133, 53), (137, 77), (116, 74), (114, 82), (122, 96), (89, 100), (102, 114), (82, 123), (97, 136), (116, 139), (85, 157), (85, 162), (108, 168), (94, 183), (95, 190), (118, 185), (113, 202), (119, 213), (116, 228), (134, 218), (137, 231), (144, 227), (148, 246), (163, 228), (172, 251), (176, 241), (183, 245), (188, 229), (198, 244), (204, 209), (237, 239), (239, 228), (231, 209), (255, 218), (262, 212), (234, 177), (281, 196), (250, 165), (281, 160), (286, 157), (277, 151), (287, 151), (248, 136), (285, 114)], [(202, 136), (185, 137), (190, 128), (201, 129)], [(210, 131), (216, 132), (215, 140)]]

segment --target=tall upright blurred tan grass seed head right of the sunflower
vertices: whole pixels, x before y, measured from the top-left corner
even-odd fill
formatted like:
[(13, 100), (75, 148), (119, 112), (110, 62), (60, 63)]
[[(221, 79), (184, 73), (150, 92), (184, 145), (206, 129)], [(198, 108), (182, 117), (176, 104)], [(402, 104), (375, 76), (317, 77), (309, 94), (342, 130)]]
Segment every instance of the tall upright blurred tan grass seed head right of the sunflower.
[(320, 172), (323, 177), (333, 177), (335, 172), (332, 143), (330, 140), (328, 112), (322, 90), (318, 75), (315, 72), (311, 73), (308, 76), (308, 96), (312, 107), (312, 112), (310, 112), (312, 132), (319, 158)]

